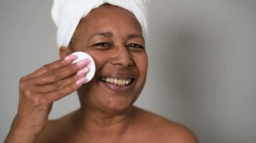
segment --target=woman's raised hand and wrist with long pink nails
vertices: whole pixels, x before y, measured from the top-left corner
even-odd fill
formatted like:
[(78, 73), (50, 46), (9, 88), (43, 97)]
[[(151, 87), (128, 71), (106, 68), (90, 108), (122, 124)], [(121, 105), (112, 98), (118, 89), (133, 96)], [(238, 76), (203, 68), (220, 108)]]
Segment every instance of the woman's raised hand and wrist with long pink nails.
[(71, 64), (74, 59), (76, 55), (66, 56), (20, 79), (18, 113), (5, 142), (35, 142), (47, 124), (53, 102), (81, 87), (89, 60)]

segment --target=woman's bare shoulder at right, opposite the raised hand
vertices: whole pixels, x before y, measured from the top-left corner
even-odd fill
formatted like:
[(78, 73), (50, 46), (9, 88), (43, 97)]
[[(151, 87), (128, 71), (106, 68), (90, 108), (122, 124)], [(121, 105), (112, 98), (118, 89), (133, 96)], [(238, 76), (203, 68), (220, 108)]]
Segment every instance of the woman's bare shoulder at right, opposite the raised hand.
[(196, 135), (182, 124), (170, 121), (144, 109), (137, 108), (137, 113), (140, 114), (140, 119), (144, 120), (142, 122), (145, 127), (151, 128), (148, 129), (153, 131), (150, 133), (150, 137), (157, 138), (157, 142), (198, 143)]

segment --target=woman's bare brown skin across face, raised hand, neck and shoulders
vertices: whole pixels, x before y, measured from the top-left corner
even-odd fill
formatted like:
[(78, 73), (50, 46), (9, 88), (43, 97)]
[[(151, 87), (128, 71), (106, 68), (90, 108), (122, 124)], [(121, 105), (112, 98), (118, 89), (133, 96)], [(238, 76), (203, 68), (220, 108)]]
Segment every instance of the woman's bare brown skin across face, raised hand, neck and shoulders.
[[(111, 5), (94, 9), (81, 20), (71, 46), (60, 48), (60, 60), (21, 79), (19, 110), (6, 142), (198, 142), (186, 127), (132, 105), (145, 84), (147, 53), (131, 12)], [(88, 61), (70, 64), (74, 58), (65, 57), (73, 51), (93, 57), (91, 82), (78, 83), (86, 73), (76, 73)], [(105, 77), (132, 82), (119, 86), (103, 82)], [(76, 90), (81, 108), (47, 121), (52, 104)]]

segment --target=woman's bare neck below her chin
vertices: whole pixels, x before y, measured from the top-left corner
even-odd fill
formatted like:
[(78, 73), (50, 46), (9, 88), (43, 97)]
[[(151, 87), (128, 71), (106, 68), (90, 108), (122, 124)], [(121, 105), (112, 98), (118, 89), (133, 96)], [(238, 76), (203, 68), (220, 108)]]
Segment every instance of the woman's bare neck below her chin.
[(121, 137), (132, 124), (134, 107), (122, 112), (106, 112), (101, 109), (78, 110), (78, 127), (90, 137)]

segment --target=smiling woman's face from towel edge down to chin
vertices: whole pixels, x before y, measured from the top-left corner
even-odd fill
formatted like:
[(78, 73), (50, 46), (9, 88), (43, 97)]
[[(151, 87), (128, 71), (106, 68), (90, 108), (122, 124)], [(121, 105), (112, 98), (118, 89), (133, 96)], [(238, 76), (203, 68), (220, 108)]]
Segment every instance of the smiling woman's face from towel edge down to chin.
[(130, 107), (147, 75), (145, 41), (135, 16), (117, 6), (100, 6), (81, 20), (72, 46), (74, 51), (90, 54), (96, 63), (91, 82), (78, 90), (82, 106), (109, 111)]

